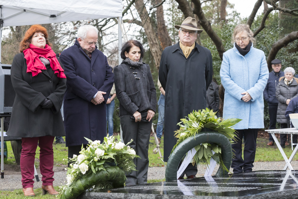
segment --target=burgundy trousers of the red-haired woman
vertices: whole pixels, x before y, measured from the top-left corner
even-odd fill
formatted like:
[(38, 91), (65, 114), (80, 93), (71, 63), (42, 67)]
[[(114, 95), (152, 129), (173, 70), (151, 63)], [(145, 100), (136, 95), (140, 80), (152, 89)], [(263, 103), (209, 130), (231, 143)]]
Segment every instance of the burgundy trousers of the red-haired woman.
[(34, 179), (34, 159), (37, 144), (40, 147), (39, 168), (42, 175), (41, 181), (45, 185), (53, 185), (54, 181), (54, 152), (53, 136), (43, 136), (35, 138), (22, 138), (21, 152), (21, 174), (23, 188), (33, 187)]

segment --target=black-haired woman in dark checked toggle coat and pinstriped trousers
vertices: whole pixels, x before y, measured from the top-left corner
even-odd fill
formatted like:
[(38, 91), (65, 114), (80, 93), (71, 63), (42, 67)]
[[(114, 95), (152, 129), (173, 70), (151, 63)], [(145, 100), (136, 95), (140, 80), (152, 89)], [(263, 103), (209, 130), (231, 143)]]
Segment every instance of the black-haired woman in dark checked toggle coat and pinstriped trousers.
[(147, 183), (148, 147), (152, 118), (156, 109), (156, 90), (148, 64), (142, 62), (144, 48), (129, 40), (121, 49), (122, 63), (114, 67), (115, 88), (123, 141), (136, 150), (136, 170), (126, 174), (126, 185)]

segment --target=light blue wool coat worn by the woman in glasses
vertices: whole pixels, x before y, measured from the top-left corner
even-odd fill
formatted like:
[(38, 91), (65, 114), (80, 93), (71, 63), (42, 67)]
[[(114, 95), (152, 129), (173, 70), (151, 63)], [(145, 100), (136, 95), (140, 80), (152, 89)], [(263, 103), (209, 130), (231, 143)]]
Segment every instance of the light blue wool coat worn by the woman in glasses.
[[(234, 129), (264, 128), (263, 91), (268, 80), (268, 67), (262, 50), (251, 47), (241, 55), (234, 47), (226, 51), (221, 63), (221, 83), (225, 88), (223, 118), (242, 119)], [(242, 92), (252, 99), (244, 102)]]

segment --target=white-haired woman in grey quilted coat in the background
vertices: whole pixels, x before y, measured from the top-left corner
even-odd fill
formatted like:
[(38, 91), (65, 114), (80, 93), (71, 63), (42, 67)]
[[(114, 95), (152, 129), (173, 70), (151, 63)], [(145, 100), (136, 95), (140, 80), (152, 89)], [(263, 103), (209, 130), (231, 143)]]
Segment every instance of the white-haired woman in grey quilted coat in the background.
[[(276, 87), (275, 96), (277, 98), (277, 122), (280, 123), (280, 128), (288, 128), (288, 119), (285, 117), (285, 110), (288, 107), (290, 101), (298, 96), (298, 79), (294, 77), (295, 70), (292, 67), (287, 67), (284, 70), (285, 76), (279, 79)], [(280, 146), (283, 148), (285, 145), (289, 145), (287, 140), (287, 134), (280, 134)], [(297, 143), (297, 135), (293, 135), (293, 143)]]

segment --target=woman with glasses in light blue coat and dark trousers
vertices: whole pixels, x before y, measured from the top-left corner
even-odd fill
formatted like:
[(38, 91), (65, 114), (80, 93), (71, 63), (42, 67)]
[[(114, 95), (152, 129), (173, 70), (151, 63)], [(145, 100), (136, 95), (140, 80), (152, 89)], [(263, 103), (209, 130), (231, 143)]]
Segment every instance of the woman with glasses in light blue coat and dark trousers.
[(264, 128), (263, 91), (269, 72), (264, 52), (253, 47), (255, 39), (248, 25), (237, 25), (232, 38), (234, 47), (224, 53), (220, 71), (225, 88), (223, 118), (242, 119), (234, 127), (237, 138), (231, 166), (234, 173), (242, 173), (252, 171), (258, 129)]

